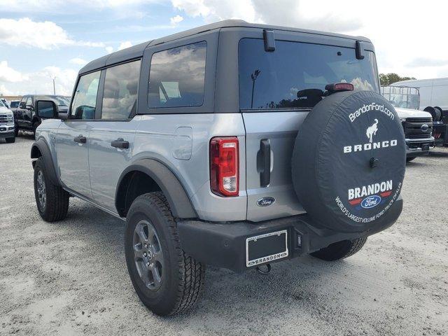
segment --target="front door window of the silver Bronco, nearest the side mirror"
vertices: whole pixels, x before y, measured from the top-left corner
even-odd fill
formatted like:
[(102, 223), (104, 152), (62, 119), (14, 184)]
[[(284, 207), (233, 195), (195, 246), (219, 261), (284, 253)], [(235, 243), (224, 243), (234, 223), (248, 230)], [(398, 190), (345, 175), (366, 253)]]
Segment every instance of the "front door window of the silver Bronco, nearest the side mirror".
[(71, 119), (94, 119), (97, 106), (99, 75), (101, 71), (88, 73), (79, 78), (71, 105)]

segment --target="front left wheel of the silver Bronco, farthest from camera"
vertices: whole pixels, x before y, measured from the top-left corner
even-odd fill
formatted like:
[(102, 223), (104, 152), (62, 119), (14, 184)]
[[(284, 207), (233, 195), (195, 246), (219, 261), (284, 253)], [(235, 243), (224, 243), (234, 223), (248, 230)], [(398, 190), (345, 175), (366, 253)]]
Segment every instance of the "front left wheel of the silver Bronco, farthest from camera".
[(42, 157), (37, 159), (34, 166), (34, 196), (37, 210), (44, 221), (62, 221), (67, 216), (69, 193), (51, 182)]

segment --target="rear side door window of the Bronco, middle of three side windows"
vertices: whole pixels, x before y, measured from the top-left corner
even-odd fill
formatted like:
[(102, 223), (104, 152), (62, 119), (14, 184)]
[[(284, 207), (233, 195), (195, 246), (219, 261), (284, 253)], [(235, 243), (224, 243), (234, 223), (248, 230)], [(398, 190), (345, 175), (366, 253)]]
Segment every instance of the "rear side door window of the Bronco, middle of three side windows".
[(137, 109), (141, 61), (106, 69), (102, 119), (127, 119)]

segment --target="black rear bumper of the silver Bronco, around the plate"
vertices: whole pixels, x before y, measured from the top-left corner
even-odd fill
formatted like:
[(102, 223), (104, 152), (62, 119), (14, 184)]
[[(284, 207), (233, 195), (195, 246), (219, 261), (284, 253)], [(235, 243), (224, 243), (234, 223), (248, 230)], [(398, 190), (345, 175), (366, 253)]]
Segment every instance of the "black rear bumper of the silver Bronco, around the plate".
[[(287, 230), (289, 255), (270, 262), (278, 262), (305, 255), (332, 243), (367, 237), (390, 227), (400, 216), (402, 199), (399, 197), (384, 215), (381, 224), (374, 230), (346, 233), (318, 228), (307, 214), (280, 218), (260, 223), (207, 223), (202, 221), (180, 221), (179, 236), (183, 250), (193, 258), (208, 265), (241, 272), (246, 267), (246, 238), (269, 232)], [(258, 264), (261, 265), (261, 264)]]

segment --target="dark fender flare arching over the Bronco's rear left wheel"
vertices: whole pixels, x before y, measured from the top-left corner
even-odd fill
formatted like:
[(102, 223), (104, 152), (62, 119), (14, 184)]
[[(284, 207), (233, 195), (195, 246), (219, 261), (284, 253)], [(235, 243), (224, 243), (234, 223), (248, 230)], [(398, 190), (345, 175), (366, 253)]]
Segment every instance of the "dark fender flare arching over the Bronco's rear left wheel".
[[(141, 159), (127, 167), (118, 179), (116, 188), (116, 209), (119, 211), (118, 197), (120, 193), (125, 192), (122, 181), (130, 172), (142, 172), (158, 184), (162, 193), (167, 197), (169, 207), (176, 218), (197, 218), (195, 209), (190, 202), (185, 189), (183, 188), (176, 175), (165, 165), (153, 159)], [(120, 212), (120, 211), (119, 211)], [(121, 216), (121, 215), (120, 215)]]

